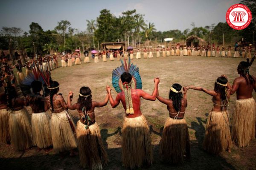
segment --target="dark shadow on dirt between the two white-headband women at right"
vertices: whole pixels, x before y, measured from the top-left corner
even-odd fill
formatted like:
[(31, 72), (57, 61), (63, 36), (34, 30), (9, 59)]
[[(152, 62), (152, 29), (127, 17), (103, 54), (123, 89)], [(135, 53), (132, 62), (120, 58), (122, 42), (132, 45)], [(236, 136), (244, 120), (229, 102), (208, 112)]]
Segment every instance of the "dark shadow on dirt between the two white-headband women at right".
[(201, 147), (203, 141), (204, 141), (204, 124), (206, 124), (206, 121), (203, 121), (200, 117), (196, 118), (198, 122), (191, 122), (191, 126), (189, 129), (195, 130), (195, 138), (197, 139), (198, 145)]

